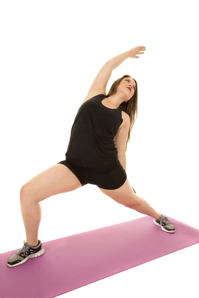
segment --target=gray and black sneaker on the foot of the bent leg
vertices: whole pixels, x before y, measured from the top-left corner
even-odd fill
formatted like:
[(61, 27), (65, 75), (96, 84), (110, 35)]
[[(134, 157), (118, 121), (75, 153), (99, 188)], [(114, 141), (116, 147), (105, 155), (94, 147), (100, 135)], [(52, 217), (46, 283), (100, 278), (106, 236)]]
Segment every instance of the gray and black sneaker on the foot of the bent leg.
[(41, 241), (37, 246), (31, 246), (28, 242), (23, 241), (23, 247), (14, 253), (8, 260), (7, 266), (14, 267), (25, 263), (28, 259), (36, 258), (44, 253)]

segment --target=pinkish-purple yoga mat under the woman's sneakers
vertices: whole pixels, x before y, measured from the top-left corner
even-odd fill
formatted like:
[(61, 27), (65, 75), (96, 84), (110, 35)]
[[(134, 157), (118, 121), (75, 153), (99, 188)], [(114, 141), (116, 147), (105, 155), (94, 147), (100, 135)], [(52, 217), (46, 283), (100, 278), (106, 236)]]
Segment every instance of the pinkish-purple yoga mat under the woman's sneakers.
[(23, 245), (2, 253), (0, 298), (57, 297), (199, 242), (199, 229), (168, 219), (175, 233), (146, 216), (44, 242), (42, 256), (12, 268), (6, 263)]

